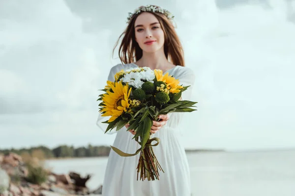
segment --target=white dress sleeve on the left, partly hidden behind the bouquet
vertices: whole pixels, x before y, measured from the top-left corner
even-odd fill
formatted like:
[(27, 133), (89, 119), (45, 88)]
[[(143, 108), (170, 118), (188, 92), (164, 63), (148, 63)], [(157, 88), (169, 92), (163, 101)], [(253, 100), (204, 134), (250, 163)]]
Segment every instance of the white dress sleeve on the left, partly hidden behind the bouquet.
[[(112, 81), (112, 82), (115, 81), (115, 74), (118, 72), (118, 66), (119, 66), (119, 64), (111, 68), (110, 73), (109, 73), (109, 76), (108, 76), (108, 80), (110, 80), (110, 81)], [(105, 85), (106, 85), (106, 82), (105, 82)], [(103, 87), (102, 87), (101, 89), (103, 89), (105, 85), (103, 85)], [(101, 91), (101, 92), (103, 93), (103, 91)], [(101, 94), (102, 94), (102, 93), (101, 93)], [(98, 118), (97, 118), (97, 121), (96, 121), (96, 125), (97, 125), (97, 126), (103, 131), (103, 132), (105, 132), (105, 131), (107, 130), (107, 127), (108, 127), (109, 124), (107, 124), (107, 123), (102, 123), (102, 122), (108, 121), (108, 120), (110, 119), (110, 117), (109, 117), (109, 116), (104, 116), (104, 117), (103, 117), (103, 116), (101, 116), (101, 115), (102, 115), (102, 114), (99, 112), (99, 113), (98, 113)], [(109, 130), (109, 131), (107, 132), (107, 134), (114, 134), (114, 133), (117, 133), (117, 131), (116, 131), (115, 128), (114, 128), (113, 130), (111, 130), (111, 131)]]

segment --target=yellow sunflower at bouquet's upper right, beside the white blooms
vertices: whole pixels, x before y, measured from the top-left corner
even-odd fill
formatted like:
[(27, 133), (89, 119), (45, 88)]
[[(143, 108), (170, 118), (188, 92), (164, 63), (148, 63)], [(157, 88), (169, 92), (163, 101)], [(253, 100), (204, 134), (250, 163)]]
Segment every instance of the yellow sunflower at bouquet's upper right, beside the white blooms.
[(183, 88), (182, 86), (178, 85), (179, 80), (175, 79), (175, 77), (170, 76), (169, 73), (163, 75), (162, 70), (154, 70), (154, 73), (157, 78), (157, 81), (163, 81), (166, 83), (167, 89), (170, 93), (178, 93), (180, 89)]

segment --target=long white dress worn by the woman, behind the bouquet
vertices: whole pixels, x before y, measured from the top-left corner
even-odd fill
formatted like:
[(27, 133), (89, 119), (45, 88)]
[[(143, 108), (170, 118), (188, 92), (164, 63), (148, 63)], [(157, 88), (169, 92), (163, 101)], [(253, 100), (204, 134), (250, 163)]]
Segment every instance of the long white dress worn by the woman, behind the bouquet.
[[(126, 70), (136, 67), (138, 66), (134, 63), (118, 64), (112, 67), (108, 80), (114, 81), (115, 73), (122, 69)], [(179, 79), (179, 85), (191, 85), (181, 96), (182, 100), (190, 100), (191, 89), (195, 81), (193, 71), (187, 67), (176, 66), (165, 73), (167, 72), (169, 75)], [(148, 181), (146, 179), (142, 181), (138, 179), (137, 181), (136, 167), (140, 153), (136, 156), (121, 157), (111, 150), (102, 187), (103, 196), (191, 196), (187, 157), (184, 147), (178, 140), (179, 133), (183, 131), (181, 130), (181, 124), (179, 125), (183, 114), (170, 113), (170, 119), (167, 124), (155, 134), (152, 134), (152, 137), (160, 138), (159, 145), (153, 147), (155, 156), (165, 172), (159, 171), (159, 180)], [(108, 124), (101, 122), (107, 121), (109, 118), (99, 115), (97, 119), (96, 124), (104, 132)], [(134, 139), (132, 140), (133, 135), (126, 130), (126, 127), (118, 131), (114, 128), (107, 133), (117, 133), (113, 144), (114, 147), (126, 153), (135, 153), (140, 148), (140, 145)]]

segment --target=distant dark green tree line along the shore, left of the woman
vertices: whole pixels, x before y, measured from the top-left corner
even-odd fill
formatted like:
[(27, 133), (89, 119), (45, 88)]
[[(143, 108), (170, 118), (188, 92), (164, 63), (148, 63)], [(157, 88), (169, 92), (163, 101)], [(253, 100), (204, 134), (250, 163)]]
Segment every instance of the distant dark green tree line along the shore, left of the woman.
[[(34, 154), (34, 152), (42, 152), (44, 158), (65, 158), (65, 157), (98, 157), (109, 156), (111, 147), (109, 146), (92, 146), (87, 147), (73, 147), (62, 145), (55, 148), (48, 148), (45, 146), (21, 148), (21, 149), (0, 149), (0, 154), (7, 154), (13, 152), (19, 155)], [(36, 154), (36, 153), (35, 153)]]

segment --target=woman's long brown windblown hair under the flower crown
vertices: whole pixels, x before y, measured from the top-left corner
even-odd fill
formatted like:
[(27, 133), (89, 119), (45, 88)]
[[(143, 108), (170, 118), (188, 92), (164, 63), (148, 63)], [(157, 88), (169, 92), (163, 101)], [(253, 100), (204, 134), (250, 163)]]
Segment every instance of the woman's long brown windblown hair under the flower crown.
[[(154, 5), (155, 6), (155, 5)], [(175, 31), (175, 27), (172, 22), (162, 13), (159, 12), (149, 12), (153, 14), (159, 21), (163, 31), (164, 31), (164, 52), (166, 58), (174, 64), (174, 65), (184, 65), (183, 58), (183, 49), (180, 43), (180, 40)], [(143, 13), (143, 12), (141, 12)], [(141, 14), (135, 14), (129, 21), (124, 32), (119, 36), (118, 41), (113, 49), (114, 50), (118, 46), (118, 42), (120, 38), (123, 36), (122, 42), (119, 47), (119, 58), (122, 64), (133, 63), (138, 61), (143, 56), (143, 50), (139, 47), (138, 43), (135, 41), (135, 20)]]

